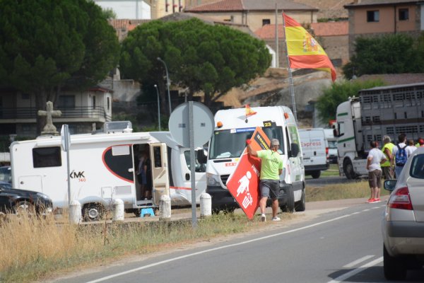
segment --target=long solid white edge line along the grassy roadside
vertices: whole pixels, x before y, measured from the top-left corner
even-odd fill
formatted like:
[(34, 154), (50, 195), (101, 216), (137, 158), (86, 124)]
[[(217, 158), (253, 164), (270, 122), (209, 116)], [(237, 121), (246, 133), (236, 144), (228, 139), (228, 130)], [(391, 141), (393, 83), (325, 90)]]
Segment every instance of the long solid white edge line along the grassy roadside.
[[(367, 211), (367, 210), (368, 209), (365, 209), (365, 211)], [(150, 267), (155, 267), (155, 266), (158, 266), (158, 265), (163, 265), (163, 264), (168, 263), (168, 262), (173, 262), (173, 261), (176, 261), (176, 260), (181, 260), (183, 258), (191, 258), (194, 255), (201, 255), (201, 254), (204, 254), (204, 253), (211, 253), (211, 252), (216, 251), (216, 250), (223, 250), (225, 248), (230, 248), (230, 247), (235, 247), (235, 246), (242, 246), (242, 245), (245, 245), (247, 243), (253, 243), (253, 242), (257, 242), (257, 241), (262, 241), (262, 240), (265, 240), (267, 238), (273, 238), (273, 237), (285, 235), (285, 234), (288, 234), (288, 233), (294, 233), (294, 232), (297, 232), (297, 231), (302, 231), (302, 230), (305, 230), (305, 229), (310, 229), (310, 228), (315, 227), (315, 226), (319, 226), (319, 225), (322, 225), (322, 224), (327, 224), (327, 223), (330, 223), (330, 222), (333, 222), (333, 221), (337, 221), (337, 220), (340, 220), (340, 219), (344, 219), (346, 217), (353, 216), (354, 214), (357, 214), (357, 213), (356, 212), (353, 212), (352, 214), (346, 214), (346, 215), (343, 215), (343, 216), (338, 216), (338, 217), (333, 218), (333, 219), (329, 219), (329, 220), (322, 221), (322, 222), (317, 222), (317, 223), (314, 223), (314, 224), (310, 224), (308, 226), (303, 226), (303, 227), (300, 227), (300, 228), (297, 228), (297, 229), (293, 229), (293, 230), (289, 230), (289, 231), (285, 231), (285, 232), (281, 232), (281, 233), (275, 233), (275, 234), (272, 234), (272, 235), (269, 235), (269, 236), (264, 236), (264, 237), (260, 237), (260, 238), (254, 238), (254, 239), (249, 240), (249, 241), (244, 241), (244, 242), (240, 242), (240, 243), (233, 243), (233, 244), (230, 244), (230, 245), (221, 246), (221, 247), (217, 247), (217, 248), (210, 248), (208, 250), (201, 250), (201, 251), (196, 252), (196, 253), (189, 253), (187, 255), (181, 255), (181, 256), (179, 256), (177, 258), (170, 258), (169, 260), (163, 260), (163, 261), (160, 261), (160, 262), (154, 262), (154, 263), (151, 263), (150, 265), (143, 265), (141, 267), (137, 267), (137, 268), (134, 268), (132, 270), (126, 270), (124, 272), (115, 273), (113, 275), (101, 277), (101, 278), (98, 278), (98, 279), (95, 279), (95, 280), (92, 280), (92, 281), (89, 281), (89, 282), (86, 282), (86, 283), (103, 282), (103, 281), (106, 281), (106, 280), (109, 280), (109, 279), (112, 279), (112, 278), (115, 278), (115, 277), (119, 277), (119, 276), (122, 276), (122, 275), (127, 275), (127, 274), (132, 273), (132, 272), (137, 272), (137, 271), (140, 271), (140, 270), (146, 270), (147, 268), (150, 268)]]

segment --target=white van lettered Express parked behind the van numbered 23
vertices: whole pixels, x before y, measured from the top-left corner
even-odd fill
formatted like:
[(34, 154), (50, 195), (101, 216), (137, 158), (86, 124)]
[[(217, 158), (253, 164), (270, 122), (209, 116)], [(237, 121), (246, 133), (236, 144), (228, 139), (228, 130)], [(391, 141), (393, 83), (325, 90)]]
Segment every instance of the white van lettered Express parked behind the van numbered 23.
[(329, 168), (329, 146), (323, 128), (299, 129), (305, 175), (319, 178)]

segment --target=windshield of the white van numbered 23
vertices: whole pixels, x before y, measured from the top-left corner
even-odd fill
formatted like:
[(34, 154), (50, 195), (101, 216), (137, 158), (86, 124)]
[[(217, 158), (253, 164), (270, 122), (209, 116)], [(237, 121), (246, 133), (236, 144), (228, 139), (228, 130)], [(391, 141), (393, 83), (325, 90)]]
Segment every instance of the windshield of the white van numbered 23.
[[(235, 158), (240, 157), (246, 147), (246, 139), (250, 139), (254, 132), (254, 127), (242, 129), (223, 129), (213, 132), (211, 144), (209, 145), (209, 158)], [(281, 127), (262, 127), (266, 136), (280, 141), (278, 152), (283, 154), (283, 131)]]

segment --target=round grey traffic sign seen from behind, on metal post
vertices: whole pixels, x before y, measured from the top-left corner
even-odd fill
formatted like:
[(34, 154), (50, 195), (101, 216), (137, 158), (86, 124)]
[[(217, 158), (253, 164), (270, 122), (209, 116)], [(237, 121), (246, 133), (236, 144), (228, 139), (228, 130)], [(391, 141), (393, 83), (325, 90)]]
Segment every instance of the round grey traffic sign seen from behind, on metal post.
[(213, 132), (213, 115), (204, 104), (189, 101), (172, 111), (168, 122), (172, 137), (178, 144), (190, 149), (192, 178), (192, 225), (196, 227), (196, 161), (194, 147), (202, 147)]

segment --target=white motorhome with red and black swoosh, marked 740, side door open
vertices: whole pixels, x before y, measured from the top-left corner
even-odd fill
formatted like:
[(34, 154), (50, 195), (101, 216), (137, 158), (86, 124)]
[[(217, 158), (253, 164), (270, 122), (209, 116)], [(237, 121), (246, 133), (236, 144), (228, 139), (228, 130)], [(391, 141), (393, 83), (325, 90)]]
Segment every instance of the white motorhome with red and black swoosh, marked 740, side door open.
[[(71, 200), (81, 202), (87, 221), (100, 219), (117, 198), (124, 201), (127, 212), (135, 214), (144, 207), (158, 207), (160, 196), (170, 195), (170, 171), (173, 204), (191, 203), (190, 186), (179, 178), (183, 174), (186, 180), (191, 178), (184, 167), (185, 150), (175, 144), (169, 132), (131, 133), (125, 128), (113, 133), (71, 135)], [(143, 200), (136, 178), (138, 156), (146, 151), (151, 158), (152, 200)], [(61, 137), (13, 142), (11, 166), (13, 187), (44, 192), (52, 198), (54, 208), (67, 207), (66, 152), (61, 149)], [(199, 174), (196, 178), (206, 178), (205, 173)]]

